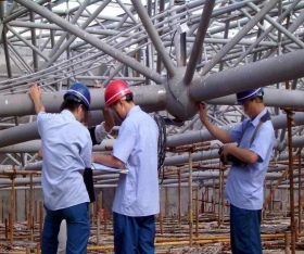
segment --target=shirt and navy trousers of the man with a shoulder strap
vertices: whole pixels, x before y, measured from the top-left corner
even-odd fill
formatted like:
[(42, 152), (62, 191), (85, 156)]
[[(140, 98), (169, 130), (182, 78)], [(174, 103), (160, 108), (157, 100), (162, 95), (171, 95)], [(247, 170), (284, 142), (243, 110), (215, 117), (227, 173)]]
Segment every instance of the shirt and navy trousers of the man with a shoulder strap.
[(229, 131), (239, 148), (249, 149), (258, 155), (254, 164), (245, 167), (231, 166), (225, 188), (225, 199), (230, 202), (230, 234), (232, 253), (262, 253), (259, 233), (261, 211), (263, 207), (263, 183), (274, 148), (274, 127), (267, 120), (257, 129), (254, 141), (253, 132), (261, 117), (267, 110), (262, 111), (254, 119), (245, 119)]

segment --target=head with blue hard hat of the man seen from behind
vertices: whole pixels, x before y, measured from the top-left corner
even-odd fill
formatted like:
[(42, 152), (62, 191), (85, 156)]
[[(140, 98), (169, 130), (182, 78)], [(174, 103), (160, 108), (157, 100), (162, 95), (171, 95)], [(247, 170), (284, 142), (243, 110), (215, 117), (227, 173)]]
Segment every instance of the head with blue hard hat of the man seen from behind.
[(63, 96), (61, 111), (71, 111), (77, 120), (81, 122), (90, 109), (91, 96), (89, 89), (81, 82), (73, 84)]

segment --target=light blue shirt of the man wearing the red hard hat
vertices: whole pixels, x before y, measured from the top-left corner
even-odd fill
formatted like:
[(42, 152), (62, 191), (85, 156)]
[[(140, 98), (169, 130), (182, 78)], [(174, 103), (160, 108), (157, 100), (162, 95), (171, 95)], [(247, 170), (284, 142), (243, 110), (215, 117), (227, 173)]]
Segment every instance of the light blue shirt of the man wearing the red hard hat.
[(113, 147), (113, 156), (124, 162), (129, 170), (119, 176), (113, 203), (115, 213), (131, 217), (160, 213), (157, 139), (155, 120), (134, 106)]

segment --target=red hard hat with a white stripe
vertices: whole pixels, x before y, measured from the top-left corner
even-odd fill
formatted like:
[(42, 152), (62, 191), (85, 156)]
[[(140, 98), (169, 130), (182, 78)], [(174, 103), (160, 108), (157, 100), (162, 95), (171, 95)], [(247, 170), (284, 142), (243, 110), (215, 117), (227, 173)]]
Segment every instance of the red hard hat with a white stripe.
[(131, 90), (125, 81), (116, 79), (110, 82), (104, 92), (105, 106), (110, 106), (128, 93), (131, 93)]

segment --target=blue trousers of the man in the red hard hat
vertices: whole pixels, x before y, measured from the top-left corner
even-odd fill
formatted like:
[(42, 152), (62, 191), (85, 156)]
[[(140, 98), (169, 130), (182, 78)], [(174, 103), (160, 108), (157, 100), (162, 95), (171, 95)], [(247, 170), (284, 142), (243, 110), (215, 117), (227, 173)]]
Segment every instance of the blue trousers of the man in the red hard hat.
[(154, 254), (154, 215), (128, 217), (113, 213), (115, 254)]

